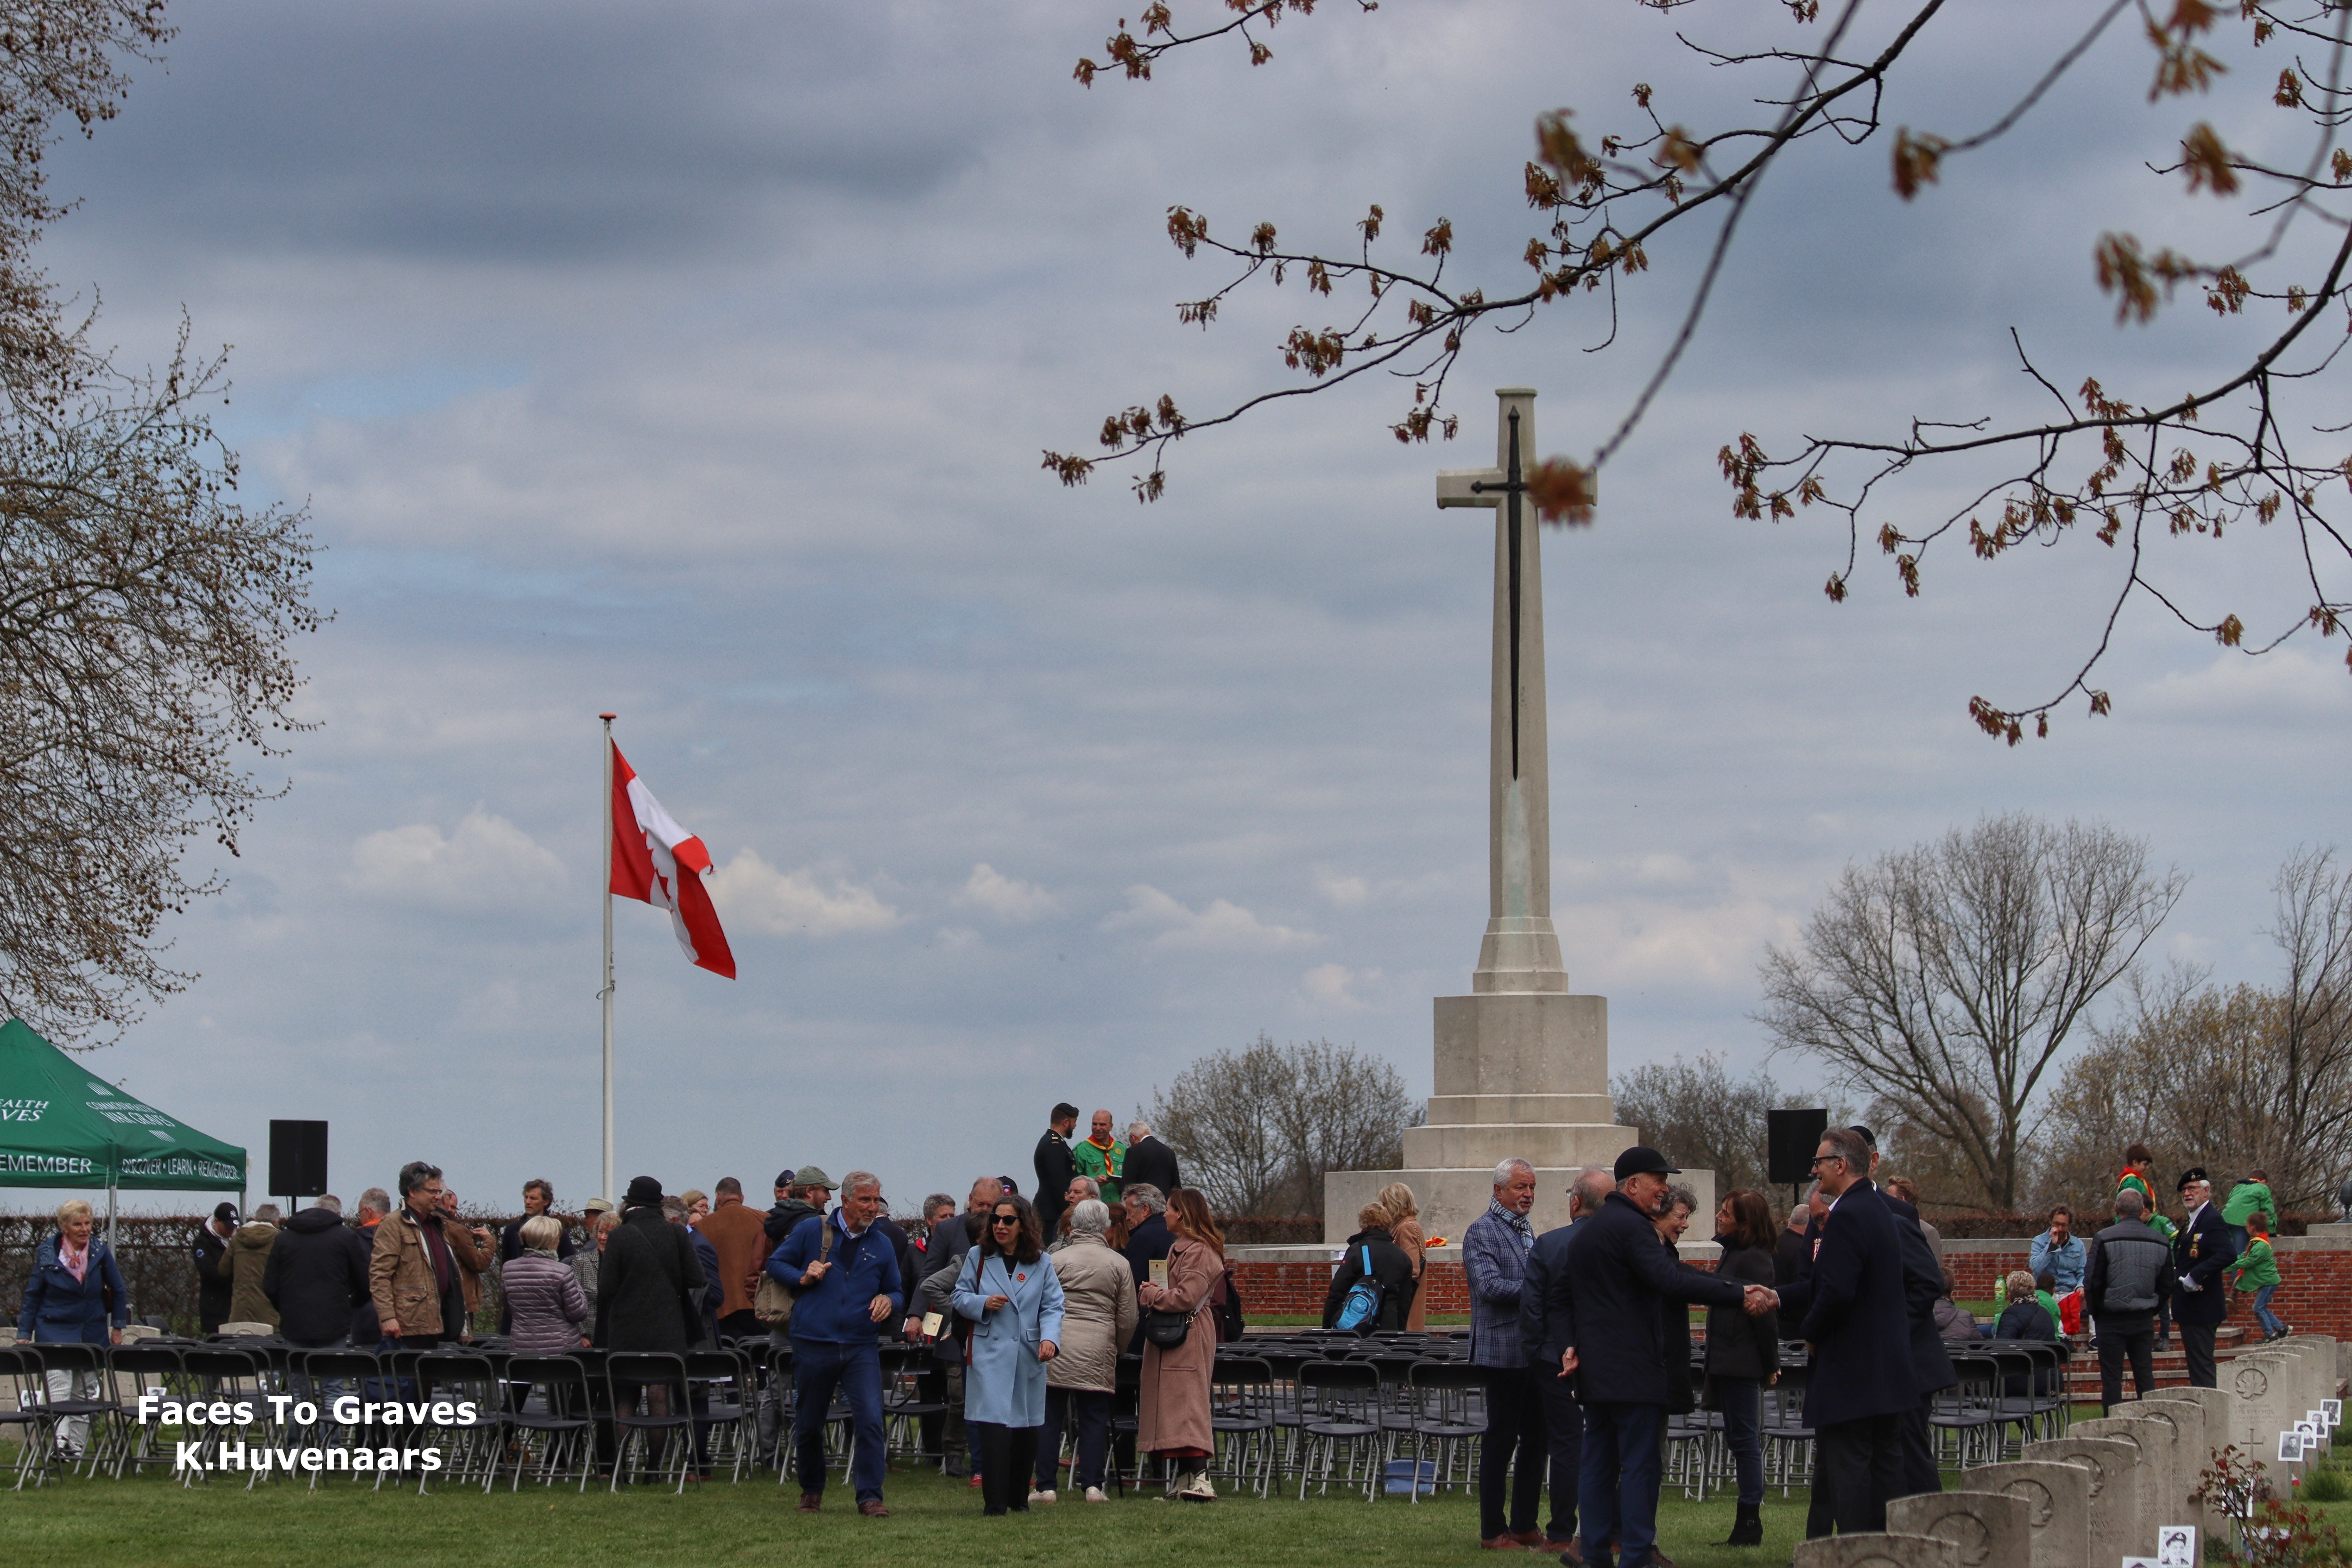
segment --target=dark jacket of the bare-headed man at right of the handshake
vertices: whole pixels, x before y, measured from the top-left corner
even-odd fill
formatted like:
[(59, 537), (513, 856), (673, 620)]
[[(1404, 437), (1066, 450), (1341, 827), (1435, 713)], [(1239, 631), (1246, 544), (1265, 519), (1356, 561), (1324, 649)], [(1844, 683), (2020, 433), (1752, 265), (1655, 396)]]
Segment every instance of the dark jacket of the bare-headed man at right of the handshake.
[(1799, 1335), (1813, 1347), (1806, 1425), (1835, 1427), (1919, 1406), (1903, 1237), (1870, 1178), (1846, 1187), (1830, 1208), (1813, 1276), (1780, 1288), (1780, 1321), (1799, 1314)]

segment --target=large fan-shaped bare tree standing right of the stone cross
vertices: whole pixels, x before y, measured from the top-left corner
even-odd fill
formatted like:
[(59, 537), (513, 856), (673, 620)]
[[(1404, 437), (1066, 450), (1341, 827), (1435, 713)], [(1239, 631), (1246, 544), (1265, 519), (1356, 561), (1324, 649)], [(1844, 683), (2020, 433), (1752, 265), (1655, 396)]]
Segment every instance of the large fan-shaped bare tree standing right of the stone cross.
[(2044, 1072), (2185, 884), (2096, 823), (1955, 827), (1849, 865), (1804, 940), (1769, 950), (1757, 1020), (1947, 1140), (2009, 1211)]

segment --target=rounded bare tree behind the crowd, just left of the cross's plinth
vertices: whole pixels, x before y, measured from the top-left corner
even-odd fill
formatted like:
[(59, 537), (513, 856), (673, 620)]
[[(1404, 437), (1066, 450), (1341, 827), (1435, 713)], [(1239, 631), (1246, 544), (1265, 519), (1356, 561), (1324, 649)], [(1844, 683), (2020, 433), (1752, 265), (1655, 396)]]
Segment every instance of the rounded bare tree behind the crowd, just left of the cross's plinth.
[(1235, 1215), (1322, 1213), (1327, 1171), (1397, 1166), (1421, 1117), (1390, 1063), (1329, 1039), (1277, 1046), (1263, 1032), (1200, 1058), (1143, 1112), (1209, 1204)]

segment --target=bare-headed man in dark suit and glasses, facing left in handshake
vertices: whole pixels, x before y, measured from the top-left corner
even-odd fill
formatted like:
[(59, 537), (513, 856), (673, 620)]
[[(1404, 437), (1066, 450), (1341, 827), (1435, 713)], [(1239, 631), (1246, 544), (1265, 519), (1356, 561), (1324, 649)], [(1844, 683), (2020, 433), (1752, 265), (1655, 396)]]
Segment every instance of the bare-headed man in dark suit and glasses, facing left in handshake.
[[(1830, 1199), (1813, 1274), (1783, 1291), (1780, 1321), (1802, 1319), (1811, 1347), (1804, 1418), (1813, 1427), (1813, 1486), (1828, 1490), (1818, 1535), (1886, 1528), (1886, 1500), (1905, 1490), (1903, 1427), (1919, 1408), (1910, 1347), (1903, 1237), (1886, 1199), (1870, 1185), (1870, 1145), (1849, 1126), (1830, 1128), (1813, 1152), (1813, 1175)], [(1940, 1286), (1940, 1279), (1938, 1279)]]

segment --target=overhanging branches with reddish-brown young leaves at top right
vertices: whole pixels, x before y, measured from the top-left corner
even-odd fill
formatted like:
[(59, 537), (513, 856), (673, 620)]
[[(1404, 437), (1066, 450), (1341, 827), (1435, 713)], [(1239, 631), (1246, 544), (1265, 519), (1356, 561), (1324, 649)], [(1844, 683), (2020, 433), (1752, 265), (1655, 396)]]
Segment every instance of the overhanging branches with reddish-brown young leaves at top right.
[[(1835, 143), (1884, 148), (1870, 155), (1875, 167), (1858, 176), (1872, 183), (1889, 179), (1903, 200), (1917, 200), (1945, 176), (1962, 176), (1966, 155), (1994, 141), (2074, 136), (2072, 122), (2037, 118), (2034, 108), (2049, 96), (2096, 92), (2060, 87), (2096, 52), (2145, 47), (2147, 101), (2227, 94), (2234, 113), (2223, 115), (2223, 125), (2246, 146), (2227, 146), (2213, 120), (2159, 132), (2143, 162), (2150, 174), (2178, 181), (2173, 202), (2150, 207), (2131, 188), (2100, 195), (2112, 195), (2122, 212), (2194, 240), (2183, 237), (2176, 249), (2143, 242), (2124, 228), (2107, 230), (2093, 247), (2091, 275), (2114, 301), (2117, 322), (2150, 322), (2176, 294), (2209, 306), (2216, 313), (2211, 329), (2230, 343), (2220, 371), (2183, 388), (2164, 357), (2145, 369), (2044, 367), (2011, 329), (2004, 348), (2016, 353), (2018, 371), (2049, 400), (2039, 416), (1994, 421), (1978, 409), (1936, 409), (1905, 418), (1893, 409), (1886, 423), (1837, 435), (1757, 440), (1740, 433), (1722, 444), (1712, 463), (1731, 489), (1733, 517), (1778, 522), (1795, 520), (1799, 508), (1820, 508), (1837, 520), (1846, 538), (1844, 559), (1825, 585), (1832, 602), (1851, 592), (1865, 538), (1884, 552), (1893, 583), (1910, 597), (1922, 592), (1924, 562), (1938, 545), (1980, 559), (2032, 559), (2034, 552), (2018, 548), (2051, 545), (2079, 531), (2114, 550), (2114, 581), (2091, 590), (2079, 607), (2084, 654), (2079, 663), (2067, 661), (2072, 675), (2053, 682), (2056, 691), (2039, 701), (1969, 701), (1969, 717), (2011, 745), (2027, 726), (2049, 733), (2051, 712), (2067, 698), (2082, 696), (2093, 715), (2110, 710), (2110, 693), (2091, 679), (2110, 651), (2117, 616), (2133, 597), (2147, 597), (2185, 628), (2246, 654), (2267, 651), (2303, 630), (2352, 635), (2352, 602), (2343, 597), (2352, 520), (2345, 494), (2333, 484), (2345, 454), (2338, 440), (2343, 393), (2331, 376), (2345, 331), (2324, 324), (2352, 303), (2352, 150), (2338, 146), (2352, 115), (2352, 82), (2345, 80), (2352, 7), (2343, 0), (2239, 0), (2234, 7), (2213, 0), (2105, 0), (2067, 38), (2046, 45), (2020, 38), (2006, 56), (2006, 78), (1985, 82), (2006, 106), (1976, 129), (1955, 127), (1947, 134), (1900, 125), (1903, 106), (1922, 89), (1943, 92), (1938, 66), (1945, 45), (1962, 52), (1971, 26), (2006, 26), (1987, 24), (1983, 7), (1947, 0), (1907, 0), (1891, 9), (1863, 7), (1860, 0), (1828, 7), (1820, 0), (1783, 0), (1783, 38), (1715, 47), (1684, 16), (1696, 9), (1693, 0), (1637, 5), (1672, 12), (1672, 21), (1661, 16), (1661, 54), (1691, 52), (1710, 66), (1708, 80), (1722, 87), (1712, 96), (1698, 89), (1686, 94), (1689, 101), (1670, 101), (1649, 82), (1630, 82), (1632, 108), (1621, 110), (1621, 125), (1597, 134), (1581, 129), (1585, 122), (1573, 108), (1536, 115), (1534, 158), (1515, 169), (1522, 155), (1505, 153), (1494, 167), (1498, 179), (1526, 190), (1534, 221), (1524, 244), (1456, 261), (1446, 216), (1392, 223), (1383, 207), (1369, 205), (1352, 240), (1317, 249), (1284, 244), (1270, 221), (1211, 235), (1207, 214), (1169, 207), (1169, 240), (1188, 259), (1207, 256), (1221, 268), (1204, 294), (1176, 303), (1178, 322), (1207, 329), (1237, 292), (1287, 282), (1305, 284), (1303, 303), (1319, 320), (1301, 320), (1275, 343), (1291, 371), (1287, 383), (1204, 418), (1183, 414), (1171, 393), (1143, 397), (1103, 421), (1101, 456), (1047, 451), (1044, 468), (1063, 484), (1080, 484), (1096, 463), (1141, 458), (1145, 470), (1134, 475), (1136, 498), (1152, 501), (1167, 484), (1162, 463), (1176, 440), (1374, 371), (1411, 388), (1409, 400), (1399, 393), (1402, 409), (1392, 423), (1399, 442), (1425, 442), (1432, 433), (1451, 437), (1456, 421), (1446, 411), (1446, 383), (1475, 331), (1522, 331), (1538, 317), (1566, 315), (1581, 348), (1609, 348), (1621, 292), (1644, 287), (1651, 252), (1665, 256), (1679, 247), (1696, 270), (1689, 299), (1675, 310), (1679, 327), (1623, 409), (1583, 433), (1581, 454), (1548, 458), (1531, 477), (1545, 520), (1590, 522), (1599, 470), (1625, 447), (1689, 350), (1731, 266), (1740, 221), (1790, 148), (1811, 143), (1828, 158), (1837, 155)], [(1209, 9), (1211, 19), (1183, 21), (1178, 9), (1188, 19)], [(1357, 9), (1371, 12), (1376, 2), (1357, 0)], [(1724, 9), (1731, 12), (1726, 26), (1748, 38), (1750, 28), (1771, 21), (1776, 7)], [(2232, 33), (2225, 9), (2244, 26), (2234, 38), (2225, 38)], [(1221, 7), (1155, 0), (1134, 31), (1120, 21), (1103, 61), (1082, 59), (1075, 75), (1089, 87), (1105, 73), (1143, 82), (1169, 54), (1195, 45), (1230, 45), (1263, 66), (1272, 56), (1268, 33), (1275, 24), (1310, 12), (1315, 0), (1223, 0)], [(1529, 31), (1531, 49), (1573, 47), (1566, 40), (1536, 42), (1534, 31), (1545, 26), (1541, 12), (1519, 7), (1515, 24)], [(2274, 75), (2258, 54), (2272, 45), (2288, 54), (2274, 61)], [(2232, 71), (2223, 59), (2232, 52), (2253, 59)], [(1971, 71), (1980, 71), (1973, 54), (1969, 61)], [(2126, 108), (2117, 106), (2122, 113)], [(2288, 125), (2270, 132), (2258, 122), (2267, 115), (2284, 115)], [(1896, 125), (1891, 146), (1889, 125)], [(1816, 179), (1820, 167), (1813, 165)], [(1414, 254), (1397, 254), (1395, 242), (1383, 242), (1390, 228), (1406, 233), (1404, 244)], [(1973, 242), (1983, 266), (2016, 287), (2056, 301), (2079, 289), (2079, 263), (2034, 273), (2013, 235), (1985, 230)], [(1468, 280), (1449, 275), (1461, 266), (1484, 270)], [(1940, 303), (1922, 301), (1924, 308)], [(1870, 367), (1853, 367), (1851, 374), (1867, 376)], [(2060, 386), (2077, 390), (2070, 395)], [(1771, 400), (1764, 393), (1759, 409), (1769, 411)], [(1710, 444), (1693, 442), (1691, 458), (1708, 461)], [(1889, 515), (1900, 522), (1879, 522)], [(2232, 531), (2251, 534), (2244, 524), (2274, 520), (2286, 520), (2296, 534), (2298, 550), (2284, 581), (2307, 609), (2249, 628), (2227, 604), (2211, 602), (2194, 569), (2183, 569), (2180, 581), (2157, 578), (2152, 552), (2161, 541), (2218, 543)]]

